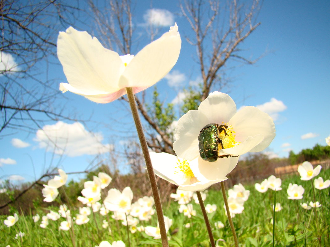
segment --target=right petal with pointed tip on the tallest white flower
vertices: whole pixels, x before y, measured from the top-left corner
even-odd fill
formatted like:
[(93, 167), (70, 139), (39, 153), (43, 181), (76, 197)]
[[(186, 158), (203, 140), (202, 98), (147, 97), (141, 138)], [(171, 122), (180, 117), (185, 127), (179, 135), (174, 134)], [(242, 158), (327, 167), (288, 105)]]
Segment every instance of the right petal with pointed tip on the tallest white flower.
[[(176, 30), (175, 30), (176, 29)], [(148, 88), (162, 79), (175, 65), (181, 49), (177, 26), (145, 46), (127, 65), (119, 87)]]

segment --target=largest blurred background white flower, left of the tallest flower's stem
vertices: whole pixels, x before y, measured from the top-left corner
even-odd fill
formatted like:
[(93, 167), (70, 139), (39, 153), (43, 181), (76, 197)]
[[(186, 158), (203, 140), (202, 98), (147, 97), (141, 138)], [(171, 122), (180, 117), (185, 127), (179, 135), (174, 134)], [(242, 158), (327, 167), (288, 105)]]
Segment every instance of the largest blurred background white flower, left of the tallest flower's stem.
[(132, 199), (133, 192), (130, 187), (124, 188), (122, 193), (117, 189), (110, 189), (103, 203), (110, 211), (128, 212), (131, 208)]

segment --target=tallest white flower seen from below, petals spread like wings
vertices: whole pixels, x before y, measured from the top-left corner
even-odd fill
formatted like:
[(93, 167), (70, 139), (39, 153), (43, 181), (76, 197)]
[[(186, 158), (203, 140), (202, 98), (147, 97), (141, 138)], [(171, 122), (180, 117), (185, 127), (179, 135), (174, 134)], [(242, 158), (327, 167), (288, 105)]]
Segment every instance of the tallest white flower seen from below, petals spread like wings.
[(170, 31), (145, 46), (136, 56), (119, 56), (102, 46), (87, 32), (69, 27), (57, 39), (57, 56), (69, 82), (60, 90), (82, 95), (97, 103), (108, 103), (132, 87), (138, 93), (162, 79), (176, 64), (181, 38), (175, 23)]

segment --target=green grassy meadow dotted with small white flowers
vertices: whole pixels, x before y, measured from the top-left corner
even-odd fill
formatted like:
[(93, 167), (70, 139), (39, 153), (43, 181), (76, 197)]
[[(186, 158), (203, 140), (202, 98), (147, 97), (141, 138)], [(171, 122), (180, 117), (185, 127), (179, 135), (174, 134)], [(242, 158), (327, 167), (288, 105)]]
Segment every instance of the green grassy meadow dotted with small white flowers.
[[(315, 178), (322, 177), (324, 180), (330, 178), (330, 169), (322, 170)], [(311, 180), (301, 180), (299, 175), (286, 176), (282, 178), (281, 190), (276, 191), (276, 203), (281, 204), (281, 210), (275, 213), (275, 246), (330, 246), (329, 222), (330, 222), (330, 191), (329, 187), (318, 190), (315, 189), (315, 200), (321, 206), (311, 209), (305, 209), (302, 203), (309, 204), (314, 202), (314, 193)], [(256, 181), (261, 182), (261, 181)], [(303, 198), (299, 200), (288, 199), (287, 188), (289, 183), (302, 185), (305, 189)], [(233, 223), (238, 235), (240, 246), (272, 246), (273, 241), (273, 204), (275, 191), (268, 189), (264, 193), (258, 192), (254, 184), (243, 184), (246, 190), (249, 190), (248, 200), (244, 202), (242, 213), (235, 214)], [(108, 188), (111, 188), (111, 183)], [(134, 188), (132, 188), (134, 193)], [(62, 191), (59, 189), (61, 195)], [(228, 191), (228, 190), (227, 190)], [(204, 204), (208, 211), (208, 217), (212, 226), (216, 246), (233, 246), (234, 240), (232, 232), (225, 215), (224, 202), (221, 191), (212, 189), (205, 192), (206, 199)], [(62, 195), (63, 197), (65, 195)], [(227, 194), (228, 196), (228, 194)], [(193, 197), (186, 199), (190, 206), (178, 204), (173, 198), (168, 198), (168, 203), (163, 204), (164, 215), (169, 218), (171, 224), (168, 229), (169, 245), (176, 247), (204, 247), (210, 246), (210, 240), (205, 227), (204, 219), (200, 206), (195, 203)], [(178, 198), (180, 200), (180, 196)], [(104, 200), (104, 198), (103, 198)], [(146, 198), (139, 199), (140, 205), (147, 202)], [(102, 199), (101, 199), (102, 202)], [(135, 201), (133, 205), (139, 204)], [(180, 202), (180, 201), (179, 201)], [(135, 204), (134, 204), (135, 203)], [(149, 201), (150, 204), (150, 201)], [(152, 203), (153, 204), (153, 203)], [(208, 206), (209, 204), (209, 206)], [(0, 216), (3, 222), (0, 225), (0, 243), (1, 246), (161, 246), (161, 240), (154, 239), (150, 232), (156, 234), (157, 217), (154, 210), (149, 211), (144, 220), (138, 220), (132, 216), (116, 214), (107, 211), (101, 206), (98, 211), (93, 212), (86, 217), (80, 217), (83, 214), (79, 212), (78, 207), (67, 205), (71, 211), (73, 227), (68, 226), (66, 218), (60, 217), (51, 220), (51, 216), (45, 216), (52, 210), (58, 212), (59, 208), (49, 203), (48, 208), (37, 208), (36, 211), (28, 215), (22, 215), (14, 209), (11, 209), (11, 215), (17, 213), (17, 222), (10, 227), (4, 224), (8, 215)], [(81, 207), (85, 205), (81, 204)], [(216, 208), (215, 208), (216, 206)], [(179, 208), (181, 207), (181, 211)], [(279, 207), (277, 210), (280, 209)], [(316, 212), (316, 214), (315, 214)], [(39, 214), (40, 219), (34, 222), (33, 216)], [(80, 214), (79, 214), (80, 213)], [(153, 214), (154, 213), (154, 214)], [(133, 214), (133, 213), (131, 213)], [(134, 214), (133, 214), (134, 215)], [(48, 225), (42, 228), (42, 217), (48, 218)], [(65, 216), (65, 215), (64, 215)], [(127, 217), (127, 218), (126, 218)], [(136, 216), (138, 217), (138, 216)], [(82, 222), (77, 222), (78, 219)], [(121, 218), (121, 220), (120, 220)], [(126, 220), (127, 219), (127, 220)], [(128, 222), (128, 227), (122, 223)], [(79, 223), (79, 224), (78, 224)], [(66, 224), (66, 225), (65, 225)], [(151, 227), (148, 229), (148, 226)], [(20, 234), (17, 234), (21, 232)], [(149, 235), (147, 234), (149, 233)], [(156, 238), (156, 237), (155, 237)], [(123, 243), (114, 242), (122, 240)], [(102, 241), (108, 241), (110, 244)]]

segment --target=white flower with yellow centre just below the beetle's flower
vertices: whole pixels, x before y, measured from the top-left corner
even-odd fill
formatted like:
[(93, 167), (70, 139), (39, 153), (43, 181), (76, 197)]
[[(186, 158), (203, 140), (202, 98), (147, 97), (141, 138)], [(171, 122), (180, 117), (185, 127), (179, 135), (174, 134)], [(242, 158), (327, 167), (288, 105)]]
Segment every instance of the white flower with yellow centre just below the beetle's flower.
[(169, 153), (150, 152), (155, 174), (170, 183), (179, 185), (180, 190), (203, 191), (212, 184), (228, 179), (238, 162), (238, 157), (221, 159), (222, 163), (208, 162), (200, 156), (186, 160)]

